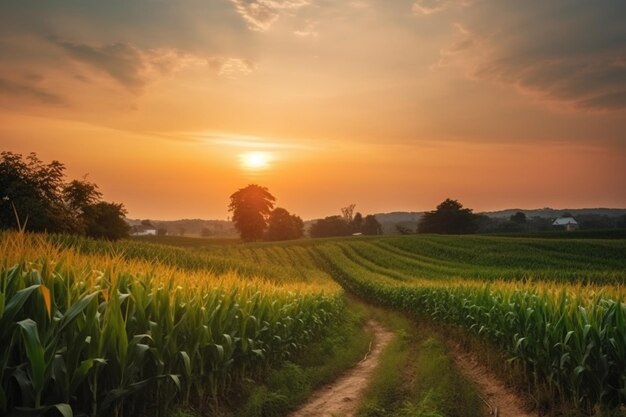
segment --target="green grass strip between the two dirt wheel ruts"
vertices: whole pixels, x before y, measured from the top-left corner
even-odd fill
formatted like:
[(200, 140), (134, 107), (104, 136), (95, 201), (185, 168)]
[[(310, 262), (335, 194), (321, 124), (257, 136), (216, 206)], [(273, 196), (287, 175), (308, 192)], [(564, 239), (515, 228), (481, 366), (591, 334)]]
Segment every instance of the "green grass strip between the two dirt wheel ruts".
[(359, 417), (479, 417), (484, 405), (448, 356), (440, 336), (398, 313), (369, 307), (396, 336), (380, 365)]

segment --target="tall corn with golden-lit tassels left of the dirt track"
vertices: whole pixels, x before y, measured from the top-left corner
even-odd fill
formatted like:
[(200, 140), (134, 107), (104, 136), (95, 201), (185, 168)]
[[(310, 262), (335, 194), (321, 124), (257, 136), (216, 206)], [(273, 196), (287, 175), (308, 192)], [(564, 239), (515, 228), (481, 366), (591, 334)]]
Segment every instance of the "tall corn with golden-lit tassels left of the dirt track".
[(172, 401), (216, 403), (343, 308), (319, 270), (303, 281), (253, 263), (245, 275), (215, 273), (201, 255), (105, 246), (0, 235), (1, 415), (166, 415)]

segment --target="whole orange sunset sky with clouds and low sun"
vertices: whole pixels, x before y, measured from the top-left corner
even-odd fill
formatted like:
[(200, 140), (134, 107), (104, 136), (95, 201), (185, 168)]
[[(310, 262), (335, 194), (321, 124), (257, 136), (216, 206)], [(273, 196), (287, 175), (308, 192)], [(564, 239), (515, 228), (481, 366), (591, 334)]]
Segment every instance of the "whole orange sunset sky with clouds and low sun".
[(0, 150), (131, 218), (626, 207), (626, 3), (0, 0)]

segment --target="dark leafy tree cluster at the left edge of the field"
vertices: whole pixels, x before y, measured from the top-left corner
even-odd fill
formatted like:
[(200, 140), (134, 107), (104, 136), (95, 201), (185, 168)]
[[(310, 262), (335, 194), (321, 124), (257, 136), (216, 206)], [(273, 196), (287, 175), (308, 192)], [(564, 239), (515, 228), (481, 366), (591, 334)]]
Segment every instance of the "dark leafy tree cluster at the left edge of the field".
[(121, 203), (102, 200), (98, 186), (68, 181), (65, 165), (42, 162), (35, 153), (0, 153), (0, 229), (70, 233), (94, 238), (128, 236)]

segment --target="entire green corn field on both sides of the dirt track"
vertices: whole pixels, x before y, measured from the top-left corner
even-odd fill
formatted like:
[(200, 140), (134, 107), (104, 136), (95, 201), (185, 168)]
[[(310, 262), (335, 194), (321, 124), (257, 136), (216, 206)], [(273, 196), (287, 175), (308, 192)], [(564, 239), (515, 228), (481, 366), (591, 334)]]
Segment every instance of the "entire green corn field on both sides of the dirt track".
[(347, 294), (484, 343), (531, 395), (588, 414), (626, 405), (620, 239), (4, 233), (0, 249), (0, 414), (218, 410), (328, 337)]

